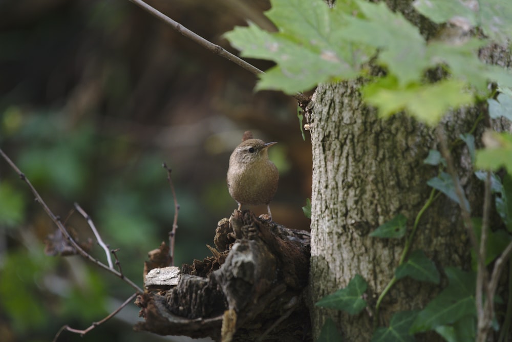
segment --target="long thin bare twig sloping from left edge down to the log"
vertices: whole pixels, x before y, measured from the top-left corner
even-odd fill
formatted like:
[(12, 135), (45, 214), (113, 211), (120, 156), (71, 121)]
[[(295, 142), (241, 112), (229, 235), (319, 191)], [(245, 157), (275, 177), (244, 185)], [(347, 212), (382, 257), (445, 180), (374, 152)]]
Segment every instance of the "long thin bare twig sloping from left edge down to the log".
[(28, 178), (25, 176), (25, 174), (20, 171), (20, 169), (16, 166), (16, 164), (14, 164), (14, 162), (4, 153), (4, 151), (2, 151), (1, 148), (0, 148), (0, 155), (2, 155), (2, 157), (7, 161), (7, 163), (15, 170), (15, 172), (18, 174), (19, 178), (22, 179), (25, 183), (27, 183), (28, 187), (32, 191), (32, 194), (35, 196), (36, 201), (39, 202), (39, 204), (45, 210), (45, 212), (50, 217), (50, 219), (52, 219), (53, 223), (55, 223), (55, 225), (59, 228), (59, 230), (62, 232), (62, 234), (66, 237), (66, 239), (68, 239), (68, 241), (73, 245), (73, 247), (78, 251), (78, 253), (80, 253), (80, 255), (82, 255), (82, 257), (86, 258), (87, 260), (95, 263), (99, 267), (101, 267), (101, 268), (103, 268), (103, 269), (105, 269), (105, 270), (115, 274), (116, 276), (120, 277), (122, 280), (124, 280), (127, 284), (129, 284), (136, 291), (138, 291), (140, 293), (144, 292), (139, 286), (137, 286), (137, 284), (132, 282), (130, 279), (128, 279), (127, 277), (124, 277), (121, 273), (119, 273), (115, 269), (110, 268), (109, 266), (103, 264), (98, 259), (93, 258), (92, 255), (90, 255), (88, 252), (84, 251), (80, 247), (80, 245), (78, 245), (76, 243), (76, 241), (71, 237), (71, 235), (69, 234), (69, 232), (66, 229), (66, 227), (64, 227), (64, 225), (60, 221), (60, 218), (55, 216), (54, 213), (52, 212), (52, 210), (50, 210), (48, 205), (41, 198), (41, 196), (39, 195), (37, 190), (34, 188), (32, 183), (30, 183)]

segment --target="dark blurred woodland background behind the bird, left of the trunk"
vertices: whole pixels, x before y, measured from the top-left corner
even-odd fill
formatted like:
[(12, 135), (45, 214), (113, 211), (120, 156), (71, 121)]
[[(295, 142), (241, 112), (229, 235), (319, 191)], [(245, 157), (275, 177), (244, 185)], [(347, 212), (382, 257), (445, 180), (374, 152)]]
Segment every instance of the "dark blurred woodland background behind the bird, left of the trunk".
[[(247, 20), (272, 30), (268, 1), (167, 0), (149, 4), (233, 51), (222, 34)], [(260, 69), (269, 62), (249, 60)], [(174, 203), (162, 162), (173, 169), (181, 205), (175, 264), (210, 255), (217, 222), (237, 207), (226, 187), (242, 133), (278, 141), (274, 221), (309, 230), (311, 146), (296, 101), (253, 91), (255, 76), (211, 54), (127, 0), (0, 1), (0, 147), (55, 215), (77, 202), (139, 286), (147, 252), (167, 241)], [(260, 215), (265, 206), (251, 207)], [(67, 225), (92, 238), (74, 212)], [(48, 341), (65, 324), (85, 329), (133, 289), (81, 257), (44, 253), (55, 226), (0, 160), (0, 339)], [(105, 262), (97, 244), (91, 254)], [(139, 341), (130, 304), (83, 338)], [(170, 340), (187, 340), (179, 337)]]

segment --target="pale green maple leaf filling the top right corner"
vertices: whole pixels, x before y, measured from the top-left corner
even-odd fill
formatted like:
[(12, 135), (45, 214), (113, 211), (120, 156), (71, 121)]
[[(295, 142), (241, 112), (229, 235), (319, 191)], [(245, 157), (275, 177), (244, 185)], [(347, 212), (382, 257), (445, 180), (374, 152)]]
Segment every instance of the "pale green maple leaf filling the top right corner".
[(449, 22), (464, 30), (479, 26), (500, 44), (512, 36), (512, 7), (504, 0), (416, 0), (413, 6), (436, 24)]

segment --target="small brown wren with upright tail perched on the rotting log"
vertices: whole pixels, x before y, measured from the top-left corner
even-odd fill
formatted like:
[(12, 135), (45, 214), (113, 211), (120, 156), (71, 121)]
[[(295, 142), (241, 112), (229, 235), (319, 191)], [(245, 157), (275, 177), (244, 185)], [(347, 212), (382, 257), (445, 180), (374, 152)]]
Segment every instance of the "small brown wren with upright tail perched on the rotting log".
[(267, 148), (276, 143), (252, 139), (252, 133), (245, 132), (242, 143), (229, 158), (227, 170), (229, 195), (238, 202), (238, 210), (242, 204), (266, 204), (270, 221), (269, 204), (278, 189), (279, 172), (268, 159)]

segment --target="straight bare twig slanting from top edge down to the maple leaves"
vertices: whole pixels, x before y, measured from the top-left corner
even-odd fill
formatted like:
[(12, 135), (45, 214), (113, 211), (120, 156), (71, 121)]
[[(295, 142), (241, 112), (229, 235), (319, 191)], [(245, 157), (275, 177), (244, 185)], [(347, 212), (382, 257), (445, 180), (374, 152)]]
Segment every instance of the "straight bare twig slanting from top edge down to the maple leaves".
[[(264, 73), (262, 70), (254, 67), (253, 65), (251, 65), (248, 62), (246, 62), (242, 58), (233, 55), (232, 53), (230, 53), (229, 51), (225, 50), (221, 46), (212, 43), (211, 41), (201, 37), (200, 35), (198, 35), (197, 33), (193, 32), (193, 31), (190, 31), (189, 29), (187, 29), (186, 27), (184, 27), (180, 23), (178, 23), (175, 20), (169, 18), (168, 16), (166, 16), (162, 12), (158, 11), (154, 7), (146, 4), (142, 0), (129, 0), (129, 1), (134, 3), (135, 5), (139, 6), (140, 8), (145, 10), (146, 12), (152, 14), (153, 16), (159, 18), (160, 20), (162, 20), (163, 22), (168, 24), (170, 27), (172, 27), (176, 32), (178, 32), (178, 33), (182, 34), (183, 36), (185, 36), (185, 37), (195, 41), (197, 44), (199, 44), (203, 48), (209, 50), (210, 52), (212, 52), (212, 53), (214, 53), (216, 55), (219, 55), (221, 57), (224, 57), (224, 58), (226, 58), (229, 61), (232, 61), (233, 63), (235, 63), (239, 67), (242, 67), (243, 69), (249, 71), (250, 73), (252, 73), (254, 75), (259, 75), (259, 74), (263, 74)], [(293, 98), (295, 98), (299, 103), (307, 103), (310, 100), (309, 97), (304, 95), (303, 93), (295, 93), (293, 95)]]

